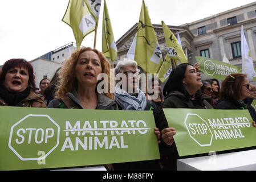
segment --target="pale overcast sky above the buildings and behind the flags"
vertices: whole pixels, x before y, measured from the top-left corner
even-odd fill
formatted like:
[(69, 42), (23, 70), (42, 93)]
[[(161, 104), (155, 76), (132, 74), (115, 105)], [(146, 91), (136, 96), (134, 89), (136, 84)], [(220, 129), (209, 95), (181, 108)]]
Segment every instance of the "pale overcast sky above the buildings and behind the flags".
[[(106, 0), (115, 40), (139, 20), (142, 0)], [(102, 0), (102, 2), (104, 2)], [(180, 26), (222, 13), (254, 1), (250, 0), (145, 0), (152, 24)], [(75, 42), (72, 29), (62, 22), (68, 0), (0, 1), (0, 65), (22, 57), (36, 57)], [(101, 51), (101, 7), (96, 48)], [(86, 36), (83, 46), (93, 47), (94, 32)]]

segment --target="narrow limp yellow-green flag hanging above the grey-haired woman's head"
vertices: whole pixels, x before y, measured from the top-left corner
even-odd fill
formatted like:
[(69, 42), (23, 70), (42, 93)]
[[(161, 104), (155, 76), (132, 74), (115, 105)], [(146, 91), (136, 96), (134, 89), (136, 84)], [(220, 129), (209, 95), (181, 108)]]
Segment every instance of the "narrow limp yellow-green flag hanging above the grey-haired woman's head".
[(112, 31), (111, 21), (108, 14), (107, 4), (105, 1), (102, 25), (102, 52), (106, 57), (109, 57), (112, 61), (116, 60), (117, 48)]

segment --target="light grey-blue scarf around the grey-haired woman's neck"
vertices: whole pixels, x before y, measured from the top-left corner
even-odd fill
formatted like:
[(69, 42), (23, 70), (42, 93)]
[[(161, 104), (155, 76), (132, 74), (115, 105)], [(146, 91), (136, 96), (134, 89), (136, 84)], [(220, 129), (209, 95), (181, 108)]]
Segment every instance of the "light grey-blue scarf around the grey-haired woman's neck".
[(144, 110), (147, 105), (145, 94), (137, 89), (138, 97), (131, 96), (123, 89), (115, 89), (115, 100), (123, 110)]

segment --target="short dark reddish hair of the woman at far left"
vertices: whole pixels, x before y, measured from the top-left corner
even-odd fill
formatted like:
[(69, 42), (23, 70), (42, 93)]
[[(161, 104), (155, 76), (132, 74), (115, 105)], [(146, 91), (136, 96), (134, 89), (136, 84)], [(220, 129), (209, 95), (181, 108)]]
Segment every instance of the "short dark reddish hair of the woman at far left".
[(27, 69), (27, 72), (29, 72), (29, 82), (28, 82), (29, 88), (30, 88), (30, 90), (35, 92), (36, 86), (35, 86), (34, 69), (33, 69), (32, 65), (27, 60), (22, 59), (22, 58), (10, 59), (5, 62), (5, 64), (2, 67), (2, 73), (0, 76), (0, 85), (3, 86), (3, 84), (5, 83), (5, 77), (6, 77), (7, 72), (10, 69), (13, 69), (15, 67)]

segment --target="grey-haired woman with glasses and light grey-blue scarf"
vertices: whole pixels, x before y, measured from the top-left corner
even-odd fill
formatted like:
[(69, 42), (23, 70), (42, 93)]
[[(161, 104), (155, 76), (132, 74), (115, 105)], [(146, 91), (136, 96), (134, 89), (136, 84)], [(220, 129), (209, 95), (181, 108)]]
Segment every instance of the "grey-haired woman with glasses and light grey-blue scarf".
[[(116, 86), (115, 100), (120, 110), (153, 110), (154, 117), (157, 117), (157, 107), (153, 102), (147, 101), (145, 93), (139, 89), (140, 70), (134, 60), (125, 59), (119, 61), (115, 68)], [(157, 126), (157, 123), (156, 123)], [(160, 138), (160, 132), (155, 129)], [(117, 171), (156, 171), (160, 170), (159, 160), (148, 160), (141, 162), (113, 164)]]

